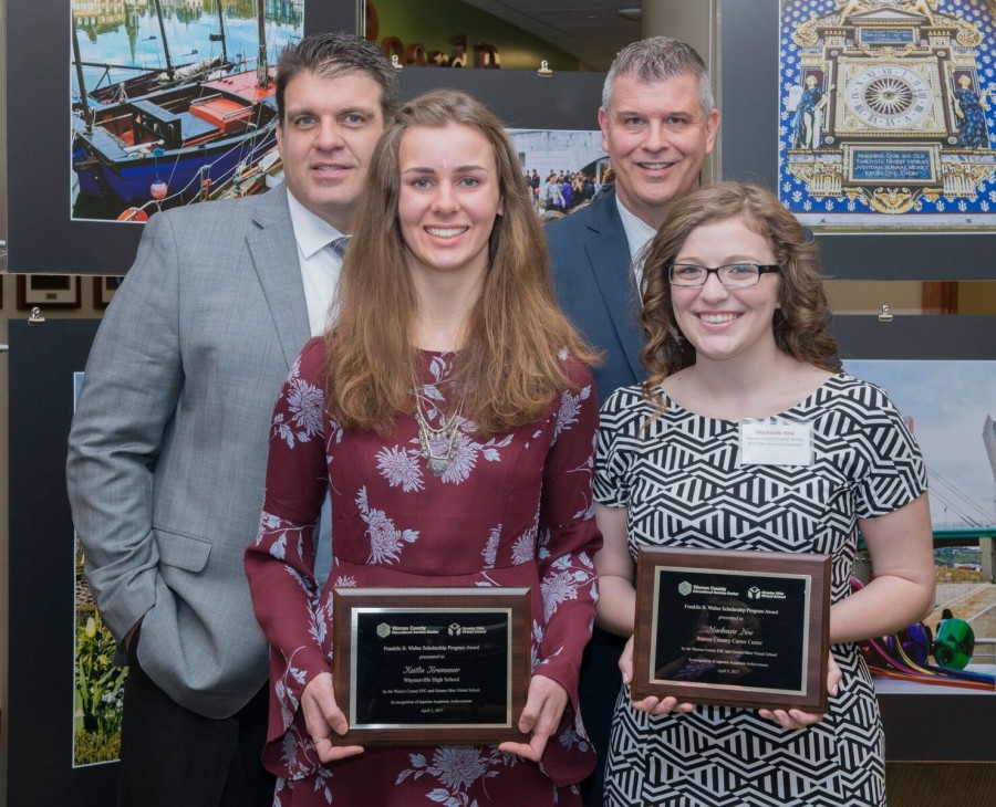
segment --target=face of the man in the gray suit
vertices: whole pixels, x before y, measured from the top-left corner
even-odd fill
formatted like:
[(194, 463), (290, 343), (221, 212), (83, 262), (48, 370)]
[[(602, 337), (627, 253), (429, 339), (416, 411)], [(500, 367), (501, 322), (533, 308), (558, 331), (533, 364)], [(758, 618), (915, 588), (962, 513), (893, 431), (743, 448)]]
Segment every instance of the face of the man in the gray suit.
[(287, 85), (284, 109), (277, 143), (288, 190), (312, 213), (349, 232), (384, 130), (380, 85), (364, 73), (302, 71)]

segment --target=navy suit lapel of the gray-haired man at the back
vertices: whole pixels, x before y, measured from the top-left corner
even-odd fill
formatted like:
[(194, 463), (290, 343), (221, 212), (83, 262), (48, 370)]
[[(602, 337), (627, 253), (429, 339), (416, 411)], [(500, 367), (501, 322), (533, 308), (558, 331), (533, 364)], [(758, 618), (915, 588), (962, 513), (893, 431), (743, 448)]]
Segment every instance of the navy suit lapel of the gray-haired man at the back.
[(606, 193), (592, 211), (589, 226), (594, 237), (588, 239), (584, 251), (595, 283), (605, 302), (609, 318), (622, 345), (635, 378), (643, 378), (640, 363), (643, 347), (640, 325), (640, 295), (630, 271), (630, 243), (615, 207), (615, 193)]

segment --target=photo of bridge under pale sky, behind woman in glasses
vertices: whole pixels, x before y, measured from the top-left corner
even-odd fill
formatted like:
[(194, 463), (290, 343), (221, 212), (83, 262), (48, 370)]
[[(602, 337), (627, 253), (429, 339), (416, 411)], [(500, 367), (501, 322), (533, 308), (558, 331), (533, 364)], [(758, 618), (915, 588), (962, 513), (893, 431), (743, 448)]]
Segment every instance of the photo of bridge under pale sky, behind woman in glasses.
[(875, 689), (996, 696), (996, 361), (848, 359), (844, 367), (889, 390), (923, 450), (931, 499), (936, 608), (865, 644)]

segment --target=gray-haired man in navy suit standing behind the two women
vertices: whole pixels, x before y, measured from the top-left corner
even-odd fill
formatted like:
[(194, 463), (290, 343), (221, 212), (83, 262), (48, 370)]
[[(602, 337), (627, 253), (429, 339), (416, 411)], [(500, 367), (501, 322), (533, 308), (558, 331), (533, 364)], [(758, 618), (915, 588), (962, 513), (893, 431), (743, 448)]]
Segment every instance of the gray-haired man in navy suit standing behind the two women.
[[(589, 342), (605, 352), (595, 368), (599, 400), (637, 384), (640, 252), (668, 205), (699, 184), (713, 150), (719, 113), (709, 74), (693, 48), (666, 36), (627, 45), (612, 63), (599, 109), (602, 147), (615, 174), (613, 189), (547, 226), (557, 293)], [(612, 710), (621, 684), (623, 641), (595, 629), (581, 670), (581, 713), (599, 753), (584, 785), (584, 804), (602, 804), (602, 772)]]

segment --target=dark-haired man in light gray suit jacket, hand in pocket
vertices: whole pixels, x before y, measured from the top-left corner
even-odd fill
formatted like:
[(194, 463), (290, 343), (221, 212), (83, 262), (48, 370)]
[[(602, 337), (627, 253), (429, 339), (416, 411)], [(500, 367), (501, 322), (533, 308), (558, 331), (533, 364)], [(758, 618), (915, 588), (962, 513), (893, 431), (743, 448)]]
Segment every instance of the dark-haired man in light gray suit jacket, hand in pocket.
[(321, 333), (373, 147), (397, 105), (376, 44), (309, 36), (278, 63), (286, 185), (160, 212), (90, 354), (70, 500), (127, 650), (118, 805), (270, 805), (267, 644), (242, 553), (273, 401)]

